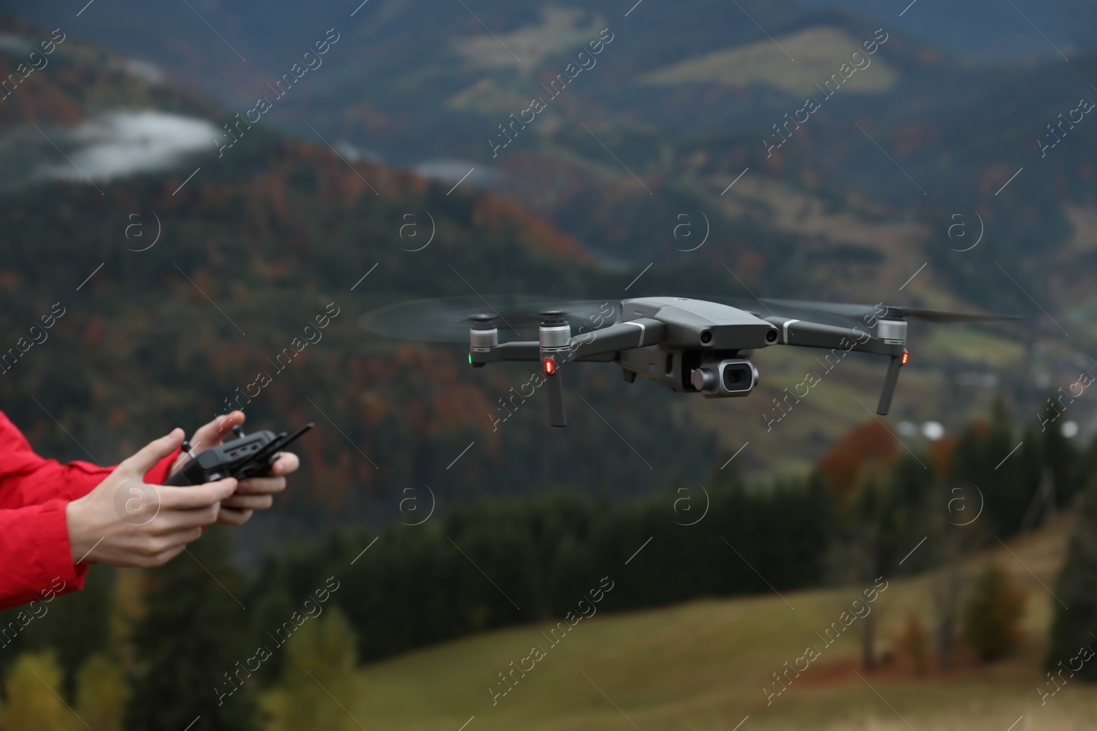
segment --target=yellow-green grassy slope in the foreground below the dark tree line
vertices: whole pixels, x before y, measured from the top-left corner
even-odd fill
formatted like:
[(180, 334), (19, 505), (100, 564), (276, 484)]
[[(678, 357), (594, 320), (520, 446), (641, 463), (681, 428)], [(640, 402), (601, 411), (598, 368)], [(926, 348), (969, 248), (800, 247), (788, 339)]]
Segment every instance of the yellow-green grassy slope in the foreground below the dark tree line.
[[(885, 667), (861, 672), (862, 620), (829, 647), (816, 632), (866, 585), (597, 615), (554, 647), (540, 633), (547, 624), (491, 632), (369, 665), (339, 700), (371, 730), (457, 731), (470, 719), (466, 731), (1094, 728), (1097, 689), (1068, 685), (1042, 707), (1036, 690), (1055, 602), (1040, 582), (1053, 586), (1070, 529), (1070, 518), (1061, 518), (1010, 544), (1016, 557), (999, 547), (968, 567), (994, 561), (1028, 591), (1022, 647), (988, 665), (961, 650), (951, 670), (919, 676), (900, 652)], [(895, 646), (911, 615), (931, 626), (930, 581), (891, 581), (879, 595), (879, 650)], [(767, 706), (762, 686), (807, 644), (821, 656)], [(499, 683), (497, 673), (532, 646), (546, 656), (493, 706), (488, 687)]]

